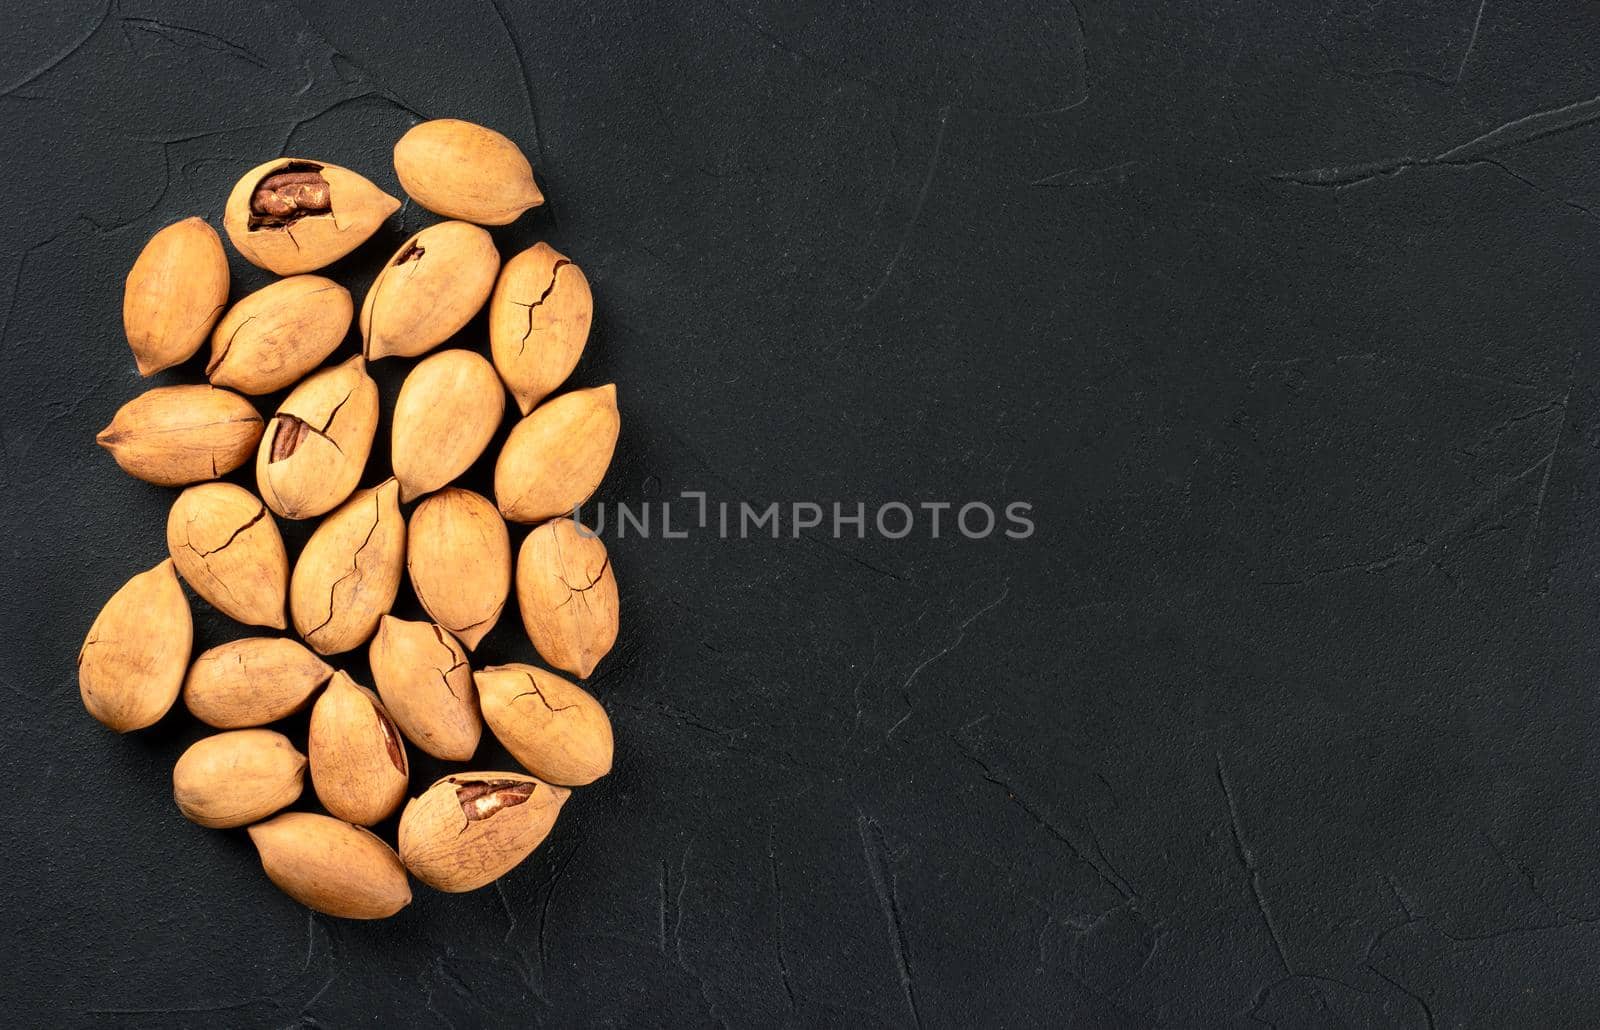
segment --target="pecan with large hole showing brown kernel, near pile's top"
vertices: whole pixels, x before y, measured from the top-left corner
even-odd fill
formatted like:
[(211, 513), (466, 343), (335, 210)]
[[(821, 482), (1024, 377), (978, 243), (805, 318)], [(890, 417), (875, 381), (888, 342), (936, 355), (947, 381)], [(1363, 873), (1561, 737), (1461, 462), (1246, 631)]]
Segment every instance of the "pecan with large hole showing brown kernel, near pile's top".
[(398, 210), (398, 200), (349, 168), (280, 157), (234, 186), (222, 229), (250, 264), (299, 275), (344, 258)]

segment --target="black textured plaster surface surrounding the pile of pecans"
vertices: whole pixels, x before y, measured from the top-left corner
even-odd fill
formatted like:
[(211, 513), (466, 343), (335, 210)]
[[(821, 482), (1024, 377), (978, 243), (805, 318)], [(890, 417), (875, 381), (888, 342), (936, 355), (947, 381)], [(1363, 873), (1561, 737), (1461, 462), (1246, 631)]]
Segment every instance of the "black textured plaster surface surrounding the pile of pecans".
[[(8, 16), (6, 1022), (1594, 1024), (1600, 8), (909, 6)], [(83, 713), (171, 502), (93, 437), (155, 229), (277, 154), (400, 195), (421, 117), (520, 142), (504, 253), (594, 283), (603, 499), (1037, 533), (608, 531), (614, 772), (498, 888), (344, 923), (178, 816), (181, 709)]]

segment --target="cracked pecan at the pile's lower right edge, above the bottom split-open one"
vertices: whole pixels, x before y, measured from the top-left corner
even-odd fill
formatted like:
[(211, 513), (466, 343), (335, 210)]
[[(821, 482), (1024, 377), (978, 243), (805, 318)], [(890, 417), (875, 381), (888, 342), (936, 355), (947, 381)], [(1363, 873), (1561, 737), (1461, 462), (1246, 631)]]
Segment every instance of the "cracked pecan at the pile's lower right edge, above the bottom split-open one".
[(491, 665), (474, 681), (483, 721), (522, 768), (563, 787), (611, 771), (611, 720), (576, 683), (533, 665)]

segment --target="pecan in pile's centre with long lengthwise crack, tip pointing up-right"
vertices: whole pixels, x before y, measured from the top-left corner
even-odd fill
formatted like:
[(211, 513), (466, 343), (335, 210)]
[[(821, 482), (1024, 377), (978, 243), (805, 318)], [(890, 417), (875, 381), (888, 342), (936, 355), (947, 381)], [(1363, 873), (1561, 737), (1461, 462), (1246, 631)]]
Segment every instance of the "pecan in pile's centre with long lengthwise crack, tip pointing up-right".
[(400, 486), (384, 480), (328, 515), (290, 576), (290, 619), (318, 654), (358, 648), (395, 603), (405, 569)]

